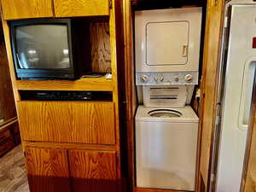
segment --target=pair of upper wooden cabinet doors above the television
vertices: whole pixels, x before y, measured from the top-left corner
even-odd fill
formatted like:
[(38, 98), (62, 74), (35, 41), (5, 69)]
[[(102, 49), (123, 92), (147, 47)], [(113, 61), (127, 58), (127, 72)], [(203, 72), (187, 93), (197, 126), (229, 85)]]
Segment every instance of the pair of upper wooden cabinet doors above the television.
[(108, 16), (112, 0), (1, 0), (4, 20)]

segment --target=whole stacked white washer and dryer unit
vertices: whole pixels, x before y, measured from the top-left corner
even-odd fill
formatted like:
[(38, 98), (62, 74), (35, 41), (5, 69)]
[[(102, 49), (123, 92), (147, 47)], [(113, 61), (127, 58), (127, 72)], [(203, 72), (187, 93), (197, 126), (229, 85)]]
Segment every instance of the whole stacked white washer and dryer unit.
[(195, 190), (201, 8), (135, 13), (137, 187)]

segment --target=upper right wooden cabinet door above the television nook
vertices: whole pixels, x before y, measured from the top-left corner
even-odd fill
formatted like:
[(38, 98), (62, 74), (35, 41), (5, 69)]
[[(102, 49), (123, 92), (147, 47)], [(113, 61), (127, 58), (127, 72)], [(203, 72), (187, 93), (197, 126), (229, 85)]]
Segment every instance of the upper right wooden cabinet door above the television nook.
[(54, 0), (56, 17), (109, 15), (109, 0)]

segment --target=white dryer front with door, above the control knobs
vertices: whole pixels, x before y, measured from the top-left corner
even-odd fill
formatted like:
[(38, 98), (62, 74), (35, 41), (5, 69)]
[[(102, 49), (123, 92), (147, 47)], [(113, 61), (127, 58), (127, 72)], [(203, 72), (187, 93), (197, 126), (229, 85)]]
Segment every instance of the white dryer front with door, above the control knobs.
[(201, 8), (136, 11), (136, 72), (197, 72), (201, 12)]

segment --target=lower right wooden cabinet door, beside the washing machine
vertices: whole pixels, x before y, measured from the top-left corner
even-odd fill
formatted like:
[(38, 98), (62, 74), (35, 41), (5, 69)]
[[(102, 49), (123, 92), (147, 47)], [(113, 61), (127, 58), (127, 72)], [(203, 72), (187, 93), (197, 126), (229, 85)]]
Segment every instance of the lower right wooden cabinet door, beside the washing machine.
[(115, 152), (70, 150), (73, 192), (116, 192)]

